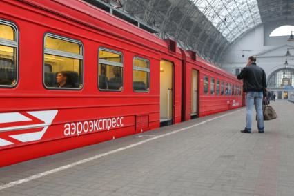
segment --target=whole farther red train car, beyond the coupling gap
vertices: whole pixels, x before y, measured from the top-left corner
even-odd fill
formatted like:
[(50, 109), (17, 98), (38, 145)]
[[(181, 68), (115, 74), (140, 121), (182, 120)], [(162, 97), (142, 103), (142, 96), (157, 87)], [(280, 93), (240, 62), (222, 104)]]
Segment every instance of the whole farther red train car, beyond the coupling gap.
[(193, 51), (181, 50), (182, 121), (242, 106), (242, 81)]

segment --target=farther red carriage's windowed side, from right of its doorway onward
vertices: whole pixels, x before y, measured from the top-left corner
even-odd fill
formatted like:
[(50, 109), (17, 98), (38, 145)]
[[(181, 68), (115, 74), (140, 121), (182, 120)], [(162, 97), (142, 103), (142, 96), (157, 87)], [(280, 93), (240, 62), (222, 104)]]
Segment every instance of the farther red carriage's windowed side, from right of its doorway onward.
[(197, 59), (202, 68), (199, 75), (199, 117), (242, 106), (242, 82), (203, 59)]

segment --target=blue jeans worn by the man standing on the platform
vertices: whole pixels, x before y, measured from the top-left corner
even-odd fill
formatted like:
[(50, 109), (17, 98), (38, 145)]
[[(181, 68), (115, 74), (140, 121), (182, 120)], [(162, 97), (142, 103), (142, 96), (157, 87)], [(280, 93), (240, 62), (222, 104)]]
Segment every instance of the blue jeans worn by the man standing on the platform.
[(258, 131), (264, 131), (264, 115), (262, 114), (262, 92), (246, 92), (246, 130), (251, 132), (252, 110), (255, 105)]

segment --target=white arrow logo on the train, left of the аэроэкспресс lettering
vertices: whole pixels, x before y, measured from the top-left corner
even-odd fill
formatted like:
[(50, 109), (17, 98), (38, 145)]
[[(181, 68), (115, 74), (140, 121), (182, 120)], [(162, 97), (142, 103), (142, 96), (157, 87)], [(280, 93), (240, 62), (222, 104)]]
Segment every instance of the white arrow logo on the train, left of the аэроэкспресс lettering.
[[(43, 128), (41, 131), (9, 135), (21, 142), (40, 140), (57, 115), (58, 110), (46, 110), (38, 112), (10, 112), (0, 113), (0, 132), (10, 130), (28, 130), (31, 128)], [(28, 114), (28, 115), (27, 115)], [(26, 116), (27, 115), (27, 116)], [(11, 141), (0, 138), (0, 146), (14, 144)]]

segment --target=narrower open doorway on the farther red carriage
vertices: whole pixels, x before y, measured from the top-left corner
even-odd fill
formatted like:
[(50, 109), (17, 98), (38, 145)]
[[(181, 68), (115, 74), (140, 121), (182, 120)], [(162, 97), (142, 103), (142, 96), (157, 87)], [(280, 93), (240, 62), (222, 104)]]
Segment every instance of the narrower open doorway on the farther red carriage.
[(191, 119), (198, 115), (198, 71), (192, 69), (191, 77)]

